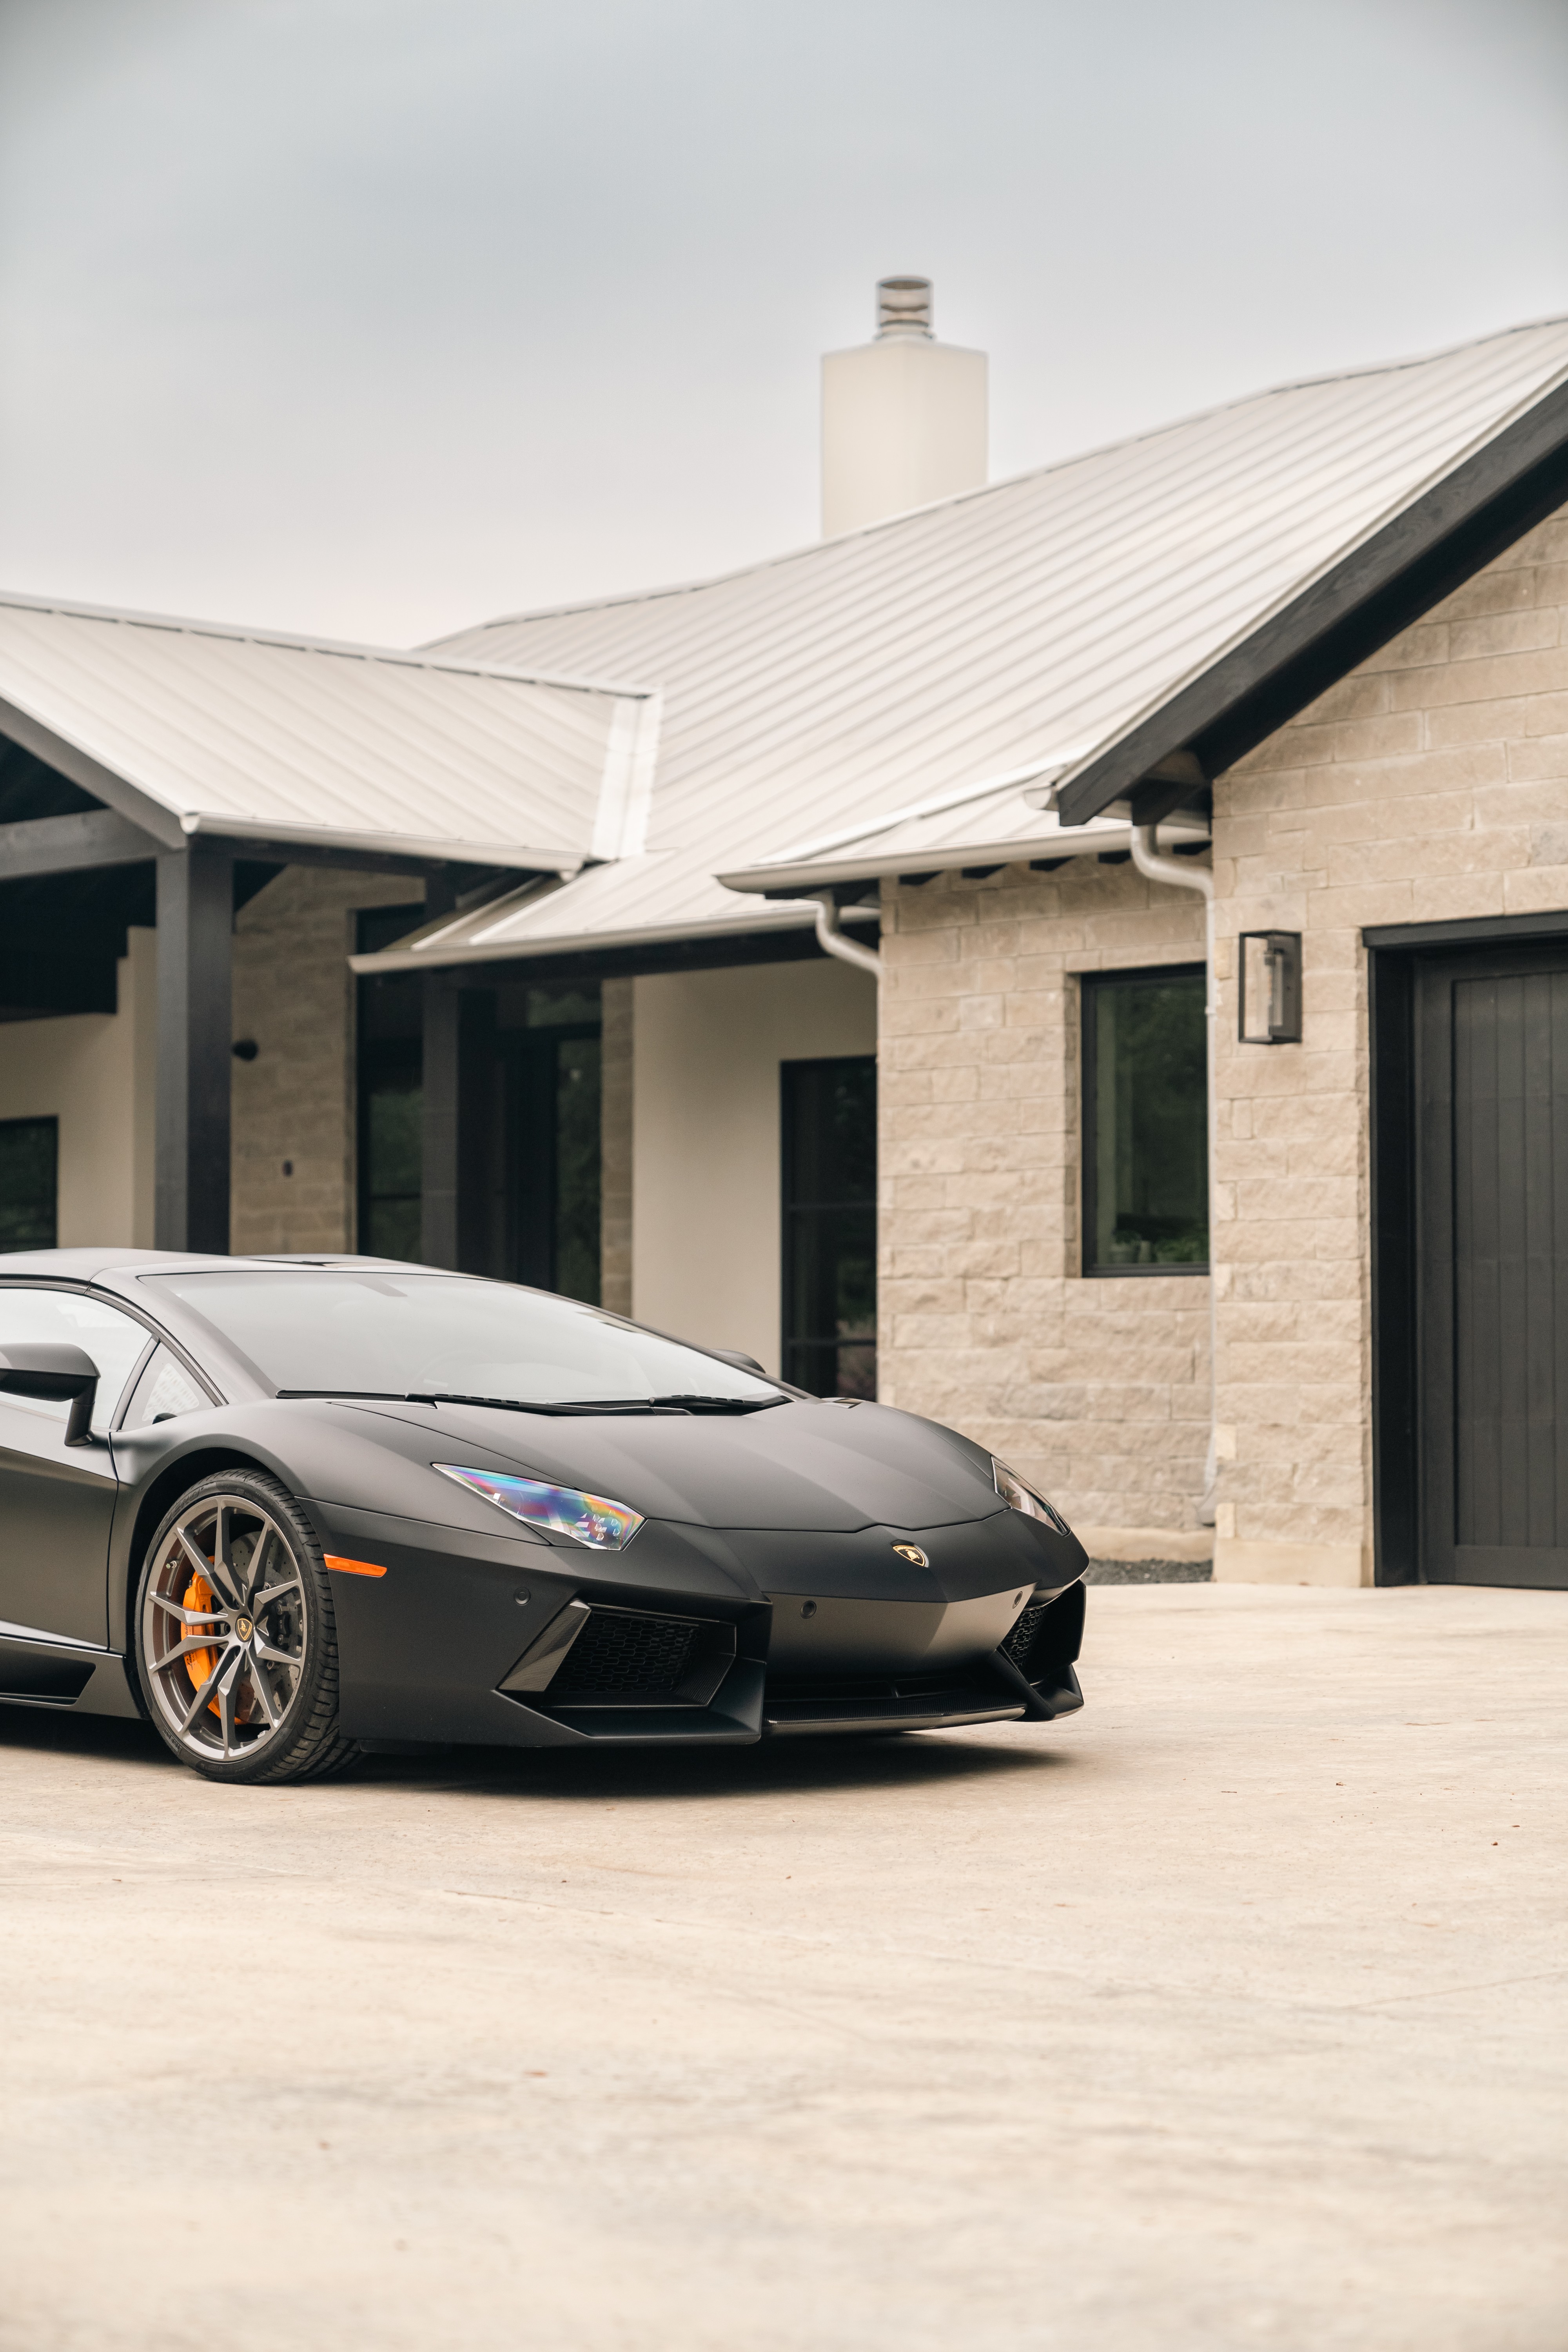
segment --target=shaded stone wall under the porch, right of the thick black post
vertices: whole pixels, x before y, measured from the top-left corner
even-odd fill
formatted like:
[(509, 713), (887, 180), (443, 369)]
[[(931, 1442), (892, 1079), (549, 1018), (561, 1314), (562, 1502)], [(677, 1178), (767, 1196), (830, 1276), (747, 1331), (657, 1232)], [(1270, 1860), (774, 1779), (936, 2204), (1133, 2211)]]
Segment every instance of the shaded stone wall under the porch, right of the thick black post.
[(355, 1247), (353, 917), (418, 896), (407, 877), (289, 866), (240, 908), (233, 1033), (259, 1051), (233, 1065), (237, 1254)]

